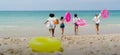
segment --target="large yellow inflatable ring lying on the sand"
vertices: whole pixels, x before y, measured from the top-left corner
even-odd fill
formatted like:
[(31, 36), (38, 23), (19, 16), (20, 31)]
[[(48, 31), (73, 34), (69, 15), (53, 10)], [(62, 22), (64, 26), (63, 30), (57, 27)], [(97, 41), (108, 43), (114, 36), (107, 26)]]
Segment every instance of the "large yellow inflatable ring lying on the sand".
[(54, 37), (34, 37), (29, 46), (36, 52), (54, 52), (61, 50), (61, 41)]

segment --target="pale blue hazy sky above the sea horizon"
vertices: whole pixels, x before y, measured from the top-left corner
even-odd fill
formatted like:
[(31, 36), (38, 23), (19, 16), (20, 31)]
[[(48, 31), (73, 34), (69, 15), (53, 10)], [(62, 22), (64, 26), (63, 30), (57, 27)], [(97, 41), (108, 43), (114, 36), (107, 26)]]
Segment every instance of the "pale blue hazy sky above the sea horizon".
[(4, 10), (120, 10), (120, 0), (0, 0)]

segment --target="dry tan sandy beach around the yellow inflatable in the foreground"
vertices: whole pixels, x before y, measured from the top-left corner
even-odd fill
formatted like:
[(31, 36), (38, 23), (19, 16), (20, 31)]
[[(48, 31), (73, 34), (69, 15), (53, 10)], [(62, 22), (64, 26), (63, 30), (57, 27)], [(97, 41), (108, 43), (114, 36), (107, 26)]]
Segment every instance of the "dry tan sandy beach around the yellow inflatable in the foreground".
[(63, 52), (33, 52), (28, 43), (33, 37), (0, 37), (0, 55), (120, 55), (120, 34), (56, 36)]

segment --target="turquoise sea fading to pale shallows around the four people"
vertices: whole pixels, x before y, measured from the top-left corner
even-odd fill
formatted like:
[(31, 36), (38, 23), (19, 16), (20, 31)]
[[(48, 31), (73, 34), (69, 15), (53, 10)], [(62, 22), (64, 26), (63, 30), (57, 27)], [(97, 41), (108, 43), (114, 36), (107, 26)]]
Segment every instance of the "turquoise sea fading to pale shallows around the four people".
[[(10, 31), (12, 32), (18, 30), (26, 30), (26, 31), (38, 31), (38, 35), (49, 35), (48, 29), (44, 22), (49, 18), (50, 13), (54, 13), (57, 19), (60, 19), (61, 16), (65, 16), (67, 11), (0, 11), (0, 31)], [(79, 27), (80, 33), (91, 33), (94, 28), (94, 22), (92, 22), (95, 14), (99, 14), (100, 10), (77, 10), (77, 11), (69, 11), (71, 12), (71, 17), (74, 14), (78, 14), (79, 18), (84, 18), (88, 25), (84, 27)], [(119, 27), (120, 26), (120, 10), (109, 10), (109, 17), (104, 19), (100, 17), (101, 23), (100, 27)], [(113, 25), (113, 26), (109, 26)], [(89, 28), (88, 28), (89, 27)], [(83, 28), (83, 29), (82, 29)], [(91, 28), (91, 29), (90, 29)], [(113, 29), (114, 29), (113, 28)], [(28, 29), (28, 30), (27, 30)], [(60, 34), (59, 25), (57, 25), (56, 32)], [(82, 29), (82, 30), (81, 30)], [(84, 30), (85, 29), (85, 30)], [(112, 30), (113, 30), (112, 29)], [(71, 31), (70, 31), (71, 30)], [(111, 31), (112, 31), (111, 30)], [(21, 31), (22, 32), (22, 31)], [(24, 32), (24, 31), (23, 31)], [(65, 22), (65, 33), (74, 34), (74, 25), (72, 23), (72, 19), (70, 22)], [(120, 32), (117, 30), (117, 32)], [(4, 34), (7, 32), (4, 32)]]

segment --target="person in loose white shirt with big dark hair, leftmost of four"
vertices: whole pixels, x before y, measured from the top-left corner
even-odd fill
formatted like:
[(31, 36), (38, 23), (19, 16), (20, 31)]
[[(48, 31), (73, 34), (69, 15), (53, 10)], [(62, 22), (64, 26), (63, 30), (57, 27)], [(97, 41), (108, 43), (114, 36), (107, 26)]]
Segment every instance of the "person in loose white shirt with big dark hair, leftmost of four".
[(49, 28), (49, 32), (52, 34), (52, 37), (54, 37), (54, 31), (56, 27), (56, 25), (54, 24), (55, 19), (55, 15), (53, 13), (50, 13), (49, 18), (45, 22), (45, 24), (47, 23), (47, 27)]

